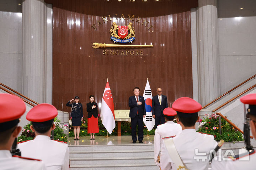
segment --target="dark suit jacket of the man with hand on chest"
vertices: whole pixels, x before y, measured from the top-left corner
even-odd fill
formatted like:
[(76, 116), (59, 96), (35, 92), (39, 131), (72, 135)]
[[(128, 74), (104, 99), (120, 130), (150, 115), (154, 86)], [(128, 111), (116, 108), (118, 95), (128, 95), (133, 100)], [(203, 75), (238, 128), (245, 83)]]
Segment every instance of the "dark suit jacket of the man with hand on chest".
[(139, 118), (143, 118), (143, 115), (146, 115), (146, 109), (145, 109), (145, 100), (143, 96), (138, 96), (139, 102), (142, 102), (141, 105), (137, 104), (135, 96), (129, 97), (129, 107), (130, 107), (130, 118), (135, 118), (137, 115), (137, 111), (139, 111)]

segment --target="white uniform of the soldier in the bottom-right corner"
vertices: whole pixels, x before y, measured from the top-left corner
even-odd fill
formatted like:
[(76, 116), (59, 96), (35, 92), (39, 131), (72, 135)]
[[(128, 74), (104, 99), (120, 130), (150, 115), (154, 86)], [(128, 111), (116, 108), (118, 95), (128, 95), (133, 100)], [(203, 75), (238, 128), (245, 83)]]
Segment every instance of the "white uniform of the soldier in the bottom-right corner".
[[(249, 157), (249, 158), (248, 158)], [(228, 167), (232, 170), (255, 170), (256, 153), (251, 154), (238, 160), (228, 161)]]

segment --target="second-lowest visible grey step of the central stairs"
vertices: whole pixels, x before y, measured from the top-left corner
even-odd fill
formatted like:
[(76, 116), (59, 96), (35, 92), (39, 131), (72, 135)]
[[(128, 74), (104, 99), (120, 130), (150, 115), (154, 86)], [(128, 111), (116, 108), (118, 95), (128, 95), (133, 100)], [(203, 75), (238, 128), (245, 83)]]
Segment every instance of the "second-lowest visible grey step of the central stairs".
[(154, 157), (122, 157), (122, 158), (70, 158), (71, 165), (102, 165), (102, 164), (140, 164), (140, 163), (150, 164), (154, 163)]

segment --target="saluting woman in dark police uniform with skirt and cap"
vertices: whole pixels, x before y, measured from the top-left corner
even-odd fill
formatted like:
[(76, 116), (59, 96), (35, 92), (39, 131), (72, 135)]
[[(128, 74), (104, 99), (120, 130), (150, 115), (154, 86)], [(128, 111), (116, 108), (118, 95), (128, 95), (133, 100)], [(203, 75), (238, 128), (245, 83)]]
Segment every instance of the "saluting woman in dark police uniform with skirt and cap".
[[(73, 102), (70, 104), (70, 102)], [(74, 99), (68, 101), (66, 103), (66, 106), (71, 107), (71, 117), (72, 117), (72, 126), (74, 127), (74, 135), (75, 138), (74, 140), (79, 140), (79, 133), (80, 133), (80, 126), (82, 125), (82, 119), (84, 117), (83, 112), (82, 112), (82, 103), (79, 103), (79, 97), (76, 96)]]

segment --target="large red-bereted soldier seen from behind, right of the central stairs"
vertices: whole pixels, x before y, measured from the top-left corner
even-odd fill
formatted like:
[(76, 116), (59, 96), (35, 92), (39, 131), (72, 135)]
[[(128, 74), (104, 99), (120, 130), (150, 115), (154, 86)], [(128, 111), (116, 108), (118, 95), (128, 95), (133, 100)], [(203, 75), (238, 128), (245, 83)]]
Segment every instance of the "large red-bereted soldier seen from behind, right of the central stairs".
[[(217, 146), (217, 142), (212, 135), (196, 132), (201, 104), (192, 98), (181, 97), (172, 104), (172, 108), (177, 112), (176, 120), (182, 128), (180, 135), (164, 140), (172, 163), (180, 170), (207, 170), (210, 151)], [(213, 169), (225, 169), (225, 165), (223, 161), (212, 162)]]

